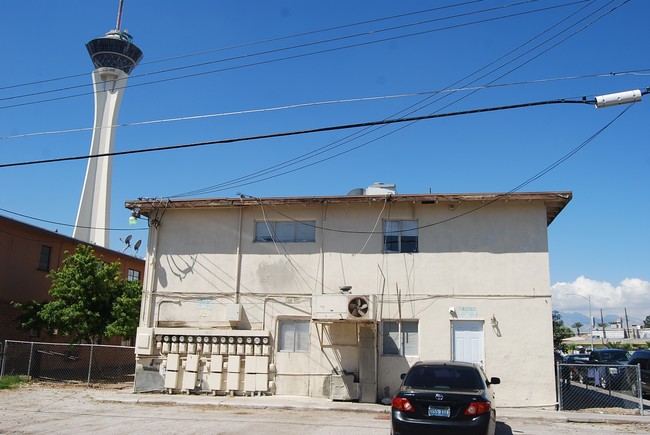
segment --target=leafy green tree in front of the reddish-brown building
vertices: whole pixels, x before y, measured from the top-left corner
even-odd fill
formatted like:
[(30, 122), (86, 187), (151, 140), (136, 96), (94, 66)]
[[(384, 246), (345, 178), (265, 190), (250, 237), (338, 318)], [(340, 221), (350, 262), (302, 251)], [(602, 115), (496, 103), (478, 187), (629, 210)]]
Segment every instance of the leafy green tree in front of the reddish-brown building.
[(140, 283), (122, 278), (120, 263), (105, 263), (90, 246), (66, 252), (60, 269), (50, 273), (54, 298), (38, 312), (48, 332), (71, 343), (98, 343), (114, 335), (132, 337), (140, 311)]

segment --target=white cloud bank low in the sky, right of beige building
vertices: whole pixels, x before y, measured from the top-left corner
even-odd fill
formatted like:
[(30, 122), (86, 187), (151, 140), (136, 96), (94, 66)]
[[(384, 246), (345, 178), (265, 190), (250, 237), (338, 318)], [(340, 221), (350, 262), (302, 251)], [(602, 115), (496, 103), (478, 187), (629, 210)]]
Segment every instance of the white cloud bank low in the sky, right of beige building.
[(626, 278), (617, 286), (595, 281), (584, 276), (574, 282), (558, 282), (552, 287), (553, 309), (560, 312), (577, 312), (589, 315), (588, 299), (591, 299), (592, 315), (598, 320), (603, 315), (625, 317), (630, 323), (643, 322), (650, 316), (650, 281)]

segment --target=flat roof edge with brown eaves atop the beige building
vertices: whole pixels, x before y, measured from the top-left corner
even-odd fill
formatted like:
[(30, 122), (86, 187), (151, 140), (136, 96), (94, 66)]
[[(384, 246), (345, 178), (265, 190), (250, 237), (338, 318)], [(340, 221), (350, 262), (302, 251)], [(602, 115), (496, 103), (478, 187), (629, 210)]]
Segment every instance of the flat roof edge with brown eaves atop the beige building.
[(126, 201), (125, 207), (138, 209), (141, 215), (149, 216), (151, 212), (161, 209), (195, 209), (195, 208), (233, 208), (279, 205), (319, 205), (319, 204), (356, 204), (356, 203), (464, 203), (507, 201), (542, 201), (546, 205), (546, 223), (550, 225), (557, 215), (573, 198), (572, 192), (517, 192), (517, 193), (429, 193), (429, 194), (386, 194), (386, 195), (338, 195), (338, 196), (296, 196), (255, 198), (242, 196), (236, 198), (197, 198), (165, 199), (142, 198)]

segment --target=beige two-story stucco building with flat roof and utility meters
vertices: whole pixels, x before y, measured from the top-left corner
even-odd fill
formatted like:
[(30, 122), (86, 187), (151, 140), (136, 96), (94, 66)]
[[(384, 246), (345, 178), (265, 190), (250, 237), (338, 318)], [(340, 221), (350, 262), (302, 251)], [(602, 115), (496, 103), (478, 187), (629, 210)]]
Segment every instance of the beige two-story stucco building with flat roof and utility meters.
[(554, 404), (547, 226), (571, 193), (390, 187), (127, 202), (150, 225), (135, 391), (376, 402), (437, 359)]

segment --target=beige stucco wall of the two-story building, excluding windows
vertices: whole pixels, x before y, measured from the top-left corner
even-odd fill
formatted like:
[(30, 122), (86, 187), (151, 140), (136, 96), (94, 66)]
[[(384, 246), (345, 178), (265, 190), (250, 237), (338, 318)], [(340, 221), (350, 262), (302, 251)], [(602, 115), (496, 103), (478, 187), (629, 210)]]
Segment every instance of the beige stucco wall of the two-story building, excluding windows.
[[(255, 221), (287, 216), (314, 220), (316, 242), (254, 242)], [(417, 254), (382, 253), (386, 218), (418, 220)], [(474, 320), (484, 322), (486, 371), (502, 379), (496, 387), (499, 404), (555, 402), (541, 202), (462, 203), (453, 210), (448, 204), (383, 202), (169, 209), (156, 240), (154, 297), (148, 302), (153, 315), (147, 326), (228, 327), (226, 305), (239, 298), (244, 309), (236, 327), (266, 329), (277, 337), (278, 319), (309, 319), (312, 295), (338, 293), (340, 286), (350, 285), (353, 294), (376, 295), (376, 320), (398, 319), (399, 306), (403, 319), (419, 321), (417, 357), (377, 357), (381, 399), (395, 390), (399, 374), (415, 360), (450, 359), (455, 319), (449, 307), (469, 307)], [(498, 330), (492, 327), (493, 316)], [(318, 327), (311, 326), (309, 353), (274, 353), (277, 394), (318, 395), (332, 370), (354, 366), (354, 345), (330, 346)], [(351, 339), (348, 327), (335, 327), (336, 340)], [(381, 351), (379, 339), (378, 345)]]

